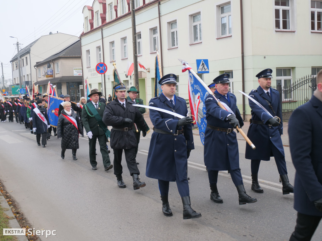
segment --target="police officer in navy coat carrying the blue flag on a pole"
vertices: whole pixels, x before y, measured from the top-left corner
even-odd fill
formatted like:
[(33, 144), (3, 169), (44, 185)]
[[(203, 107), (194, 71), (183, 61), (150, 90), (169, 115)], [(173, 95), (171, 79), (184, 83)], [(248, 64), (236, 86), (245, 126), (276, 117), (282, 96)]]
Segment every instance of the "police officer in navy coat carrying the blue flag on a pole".
[[(209, 85), (216, 98), (223, 103), (227, 110), (223, 110), (212, 94), (205, 100), (207, 127), (204, 138), (204, 164), (208, 169), (210, 183), (210, 199), (223, 203), (217, 189), (218, 171), (229, 170), (232, 182), (235, 184), (239, 205), (256, 202), (246, 194), (239, 169), (239, 153), (236, 132), (234, 128), (241, 128), (243, 121), (236, 105), (236, 96), (229, 92), (229, 74), (222, 74)], [(215, 88), (215, 89), (214, 89)]]

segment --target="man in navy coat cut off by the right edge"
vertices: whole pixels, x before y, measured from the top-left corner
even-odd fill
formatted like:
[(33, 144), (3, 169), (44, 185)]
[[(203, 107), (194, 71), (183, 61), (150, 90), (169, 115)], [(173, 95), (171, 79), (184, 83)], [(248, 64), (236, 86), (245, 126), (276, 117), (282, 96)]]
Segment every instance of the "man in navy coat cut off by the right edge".
[(312, 99), (289, 119), (289, 147), (296, 169), (294, 209), (298, 211), (290, 241), (311, 240), (322, 217), (321, 123), (322, 70)]

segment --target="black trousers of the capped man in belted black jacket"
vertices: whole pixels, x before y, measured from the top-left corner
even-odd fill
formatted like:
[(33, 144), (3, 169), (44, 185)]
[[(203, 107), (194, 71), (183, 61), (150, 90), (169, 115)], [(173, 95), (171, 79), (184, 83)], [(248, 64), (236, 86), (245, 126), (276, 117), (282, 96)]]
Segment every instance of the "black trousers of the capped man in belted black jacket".
[(138, 174), (139, 175), (140, 171), (137, 168), (137, 164), (136, 164), (136, 161), (135, 161), (136, 147), (132, 147), (132, 148), (129, 148), (129, 149), (113, 149), (113, 152), (114, 152), (114, 161), (113, 161), (114, 175), (119, 177), (123, 173), (123, 167), (121, 165), (123, 150), (124, 150), (125, 160), (126, 160), (126, 164), (128, 165), (128, 170), (130, 172), (130, 175), (131, 176), (133, 174)]

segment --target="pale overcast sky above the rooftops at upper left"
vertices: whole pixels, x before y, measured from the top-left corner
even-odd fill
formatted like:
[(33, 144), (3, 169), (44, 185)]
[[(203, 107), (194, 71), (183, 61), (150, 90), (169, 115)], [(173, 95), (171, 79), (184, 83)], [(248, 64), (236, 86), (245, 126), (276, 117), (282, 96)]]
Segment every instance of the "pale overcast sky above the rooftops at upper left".
[(12, 78), (9, 61), (17, 53), (17, 39), (9, 36), (18, 38), (21, 48), (49, 32), (80, 36), (83, 7), (91, 6), (93, 1), (0, 0), (0, 62), (3, 63), (5, 79)]

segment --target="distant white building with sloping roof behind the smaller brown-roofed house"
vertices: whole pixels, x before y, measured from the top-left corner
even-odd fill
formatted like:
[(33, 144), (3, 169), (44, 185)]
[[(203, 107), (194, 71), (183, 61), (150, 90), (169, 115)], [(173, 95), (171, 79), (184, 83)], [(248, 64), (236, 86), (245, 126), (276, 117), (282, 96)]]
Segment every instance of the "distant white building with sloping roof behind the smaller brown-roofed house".
[[(20, 73), (23, 85), (27, 83), (31, 89), (32, 84), (36, 82), (37, 70), (34, 68), (34, 65), (37, 62), (43, 61), (48, 56), (64, 49), (76, 40), (78, 40), (77, 36), (65, 33), (50, 33), (41, 36), (39, 39), (20, 49)], [(13, 84), (19, 85), (18, 54), (10, 62), (12, 63)]]

